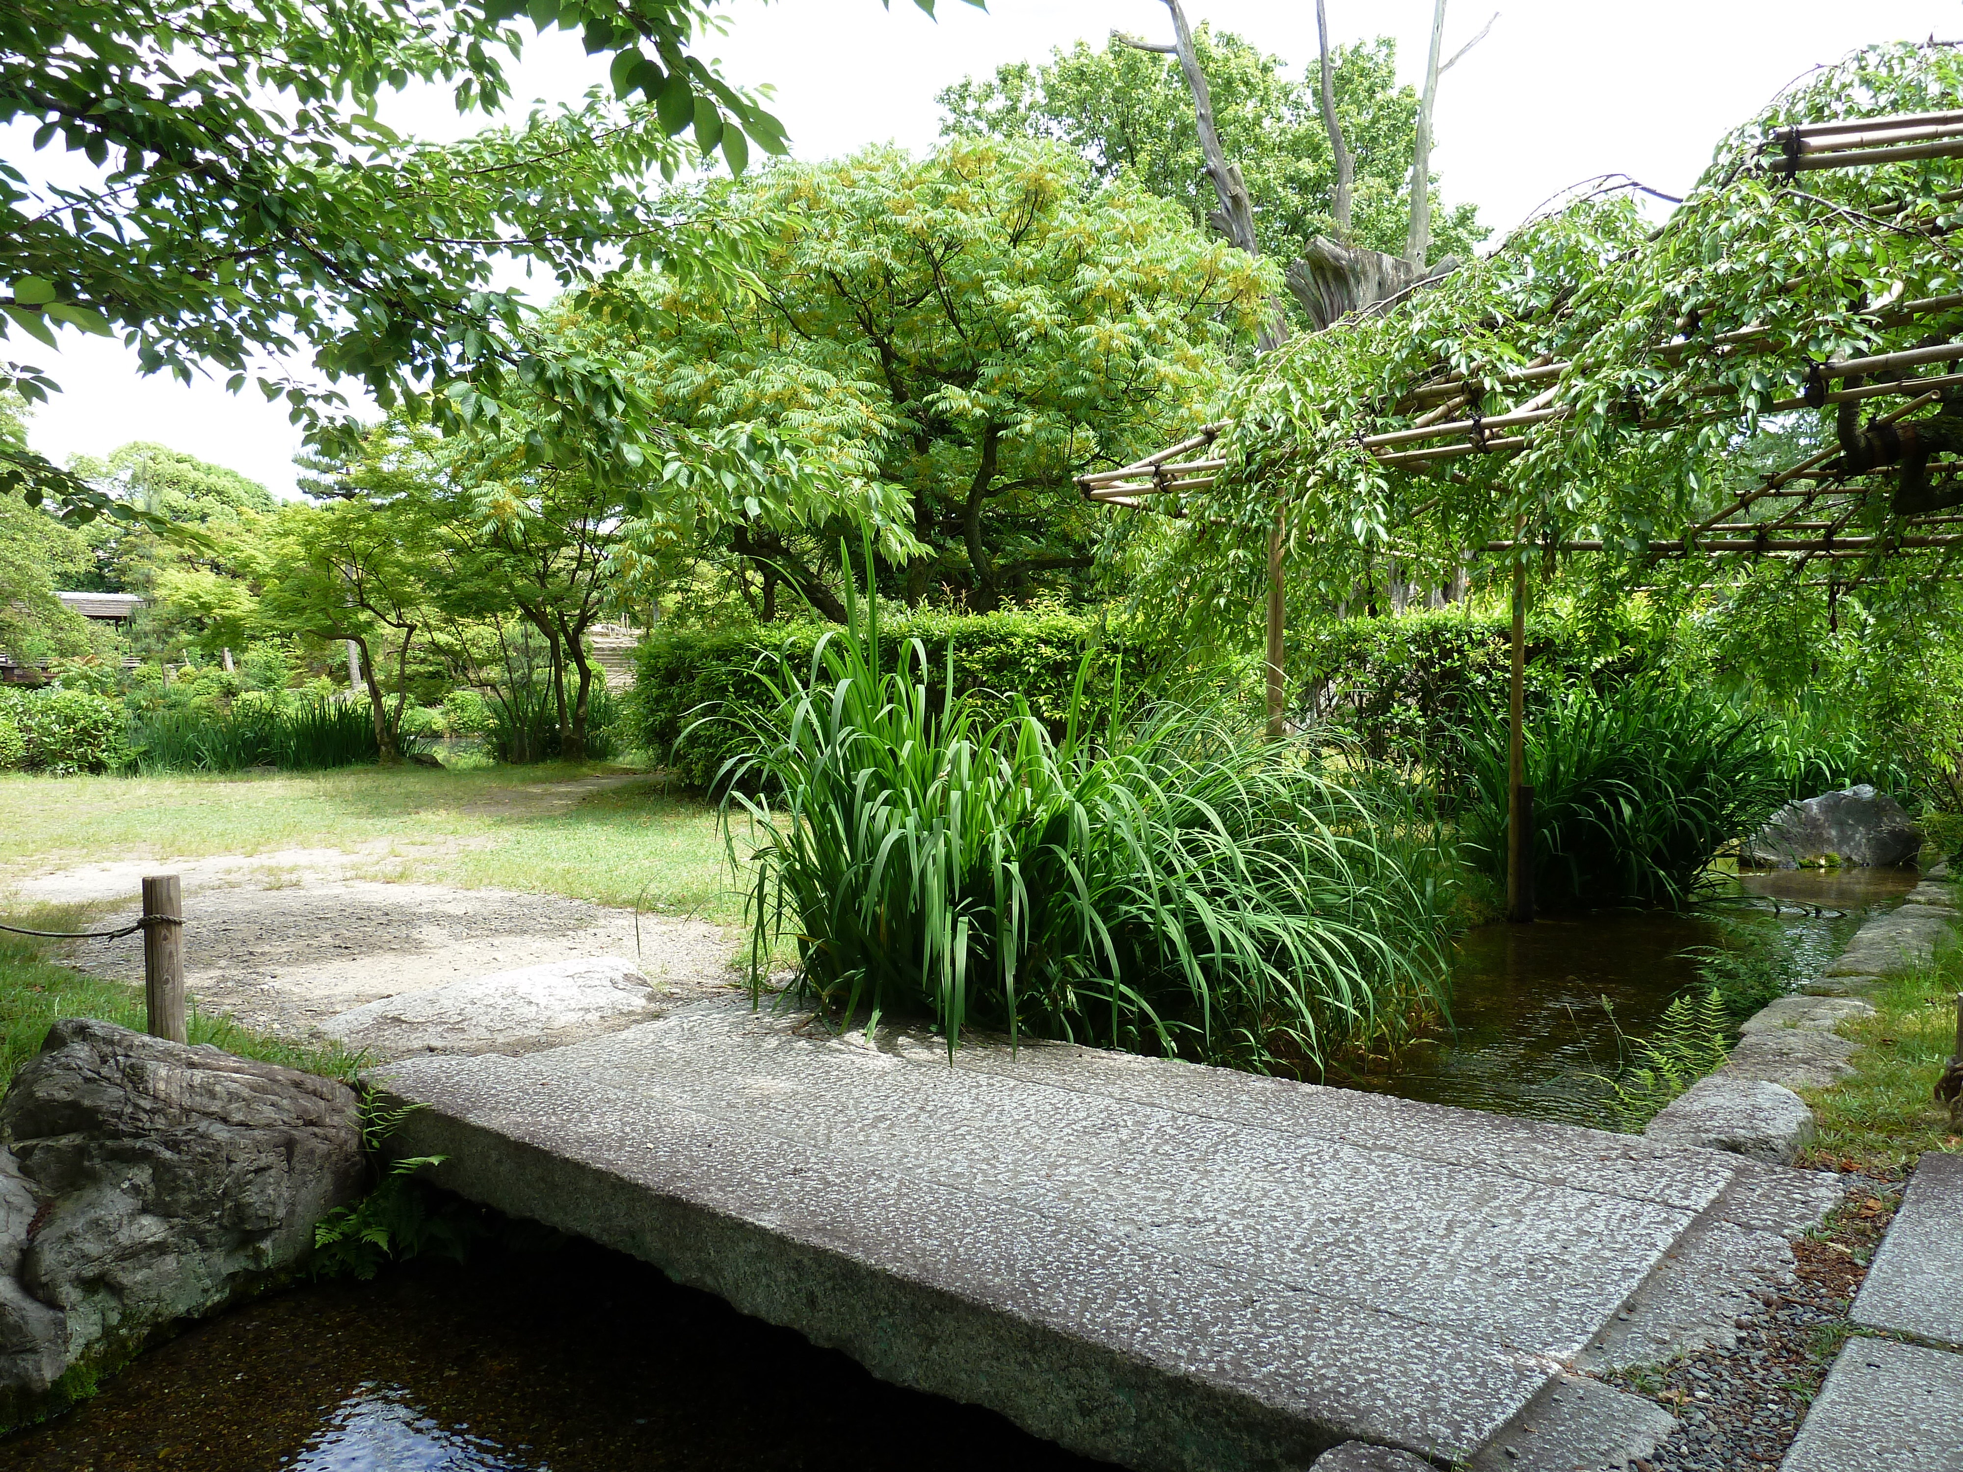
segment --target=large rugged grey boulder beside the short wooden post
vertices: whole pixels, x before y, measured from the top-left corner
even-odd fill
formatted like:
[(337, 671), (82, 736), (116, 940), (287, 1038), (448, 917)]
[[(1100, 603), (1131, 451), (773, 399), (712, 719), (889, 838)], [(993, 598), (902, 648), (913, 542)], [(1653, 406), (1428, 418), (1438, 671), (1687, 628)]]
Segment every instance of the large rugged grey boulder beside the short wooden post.
[(345, 1083), (90, 1019), (14, 1076), (0, 1144), (0, 1425), (281, 1280), (363, 1189)]

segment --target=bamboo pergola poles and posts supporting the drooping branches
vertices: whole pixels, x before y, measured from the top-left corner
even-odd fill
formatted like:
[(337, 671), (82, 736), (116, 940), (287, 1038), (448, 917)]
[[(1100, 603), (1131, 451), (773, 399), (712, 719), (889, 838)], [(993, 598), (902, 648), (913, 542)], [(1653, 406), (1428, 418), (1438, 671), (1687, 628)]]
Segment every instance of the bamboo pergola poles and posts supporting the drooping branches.
[[(1751, 169), (1771, 183), (1798, 188), (1804, 175), (1833, 169), (1867, 169), (1886, 163), (1928, 159), (1963, 159), (1963, 110), (1916, 112), (1879, 118), (1847, 118), (1798, 124), (1771, 130), (1755, 149)], [(1926, 198), (1937, 202), (1963, 200), (1963, 188), (1943, 190)], [(1822, 200), (1822, 204), (1830, 204)], [(1839, 208), (1839, 206), (1831, 206)], [(1877, 222), (1888, 222), (1908, 208), (1881, 204), (1865, 210)], [(1900, 230), (1898, 226), (1890, 226)], [(1912, 232), (1906, 232), (1912, 234)], [(1928, 239), (1947, 234), (1930, 226)], [(1378, 302), (1356, 316), (1394, 312), (1404, 296)], [(1914, 347), (1865, 357), (1841, 357), (1808, 363), (1804, 391), (1773, 402), (1743, 404), (1731, 383), (1710, 383), (1694, 391), (1708, 408), (1686, 416), (1680, 408), (1665, 418), (1641, 418), (1639, 430), (1676, 430), (1696, 422), (1739, 418), (1747, 414), (1778, 414), (1802, 408), (1826, 408), (1867, 400), (1902, 400), (1867, 422), (1863, 434), (1892, 432), (1914, 442), (1914, 414), (1932, 404), (1947, 404), (1953, 391), (1963, 391), (1963, 292), (1924, 296), (1916, 300), (1883, 302), (1861, 316), (1875, 328), (1930, 328), (1918, 334)], [(1341, 326), (1341, 324), (1339, 324)], [(1773, 328), (1749, 322), (1722, 334), (1702, 334), (1692, 312), (1676, 322), (1676, 342), (1657, 343), (1657, 359), (1682, 365), (1692, 349), (1702, 361), (1727, 365), (1745, 355), (1788, 351)], [(1700, 361), (1700, 359), (1688, 359)], [(1790, 369), (1790, 363), (1786, 365)], [(1531, 357), (1498, 375), (1470, 379), (1451, 369), (1435, 369), (1402, 389), (1382, 396), (1386, 418), (1409, 420), (1402, 428), (1360, 436), (1354, 444), (1368, 451), (1384, 469), (1404, 473), (1453, 475), (1472, 457), (1513, 457), (1537, 444), (1537, 438), (1559, 432), (1570, 418), (1574, 385), (1584, 383), (1592, 363), (1584, 353), (1555, 359), (1547, 353)], [(1963, 398), (1963, 393), (1957, 393)], [(1568, 400), (1568, 402), (1563, 402)], [(1924, 420), (1922, 424), (1928, 424)], [(1146, 455), (1129, 465), (1078, 477), (1086, 500), (1121, 510), (1156, 512), (1176, 518), (1219, 520), (1207, 512), (1205, 493), (1223, 475), (1231, 475), (1233, 422), (1203, 426), (1197, 434)], [(1223, 442), (1227, 442), (1223, 446)], [(1892, 442), (1890, 442), (1892, 444)], [(1702, 520), (1682, 526), (1678, 536), (1649, 540), (1643, 555), (1651, 561), (1688, 557), (1753, 557), (1780, 559), (1804, 569), (1826, 563), (1830, 569), (1845, 563), (1875, 563), (1904, 552), (1932, 552), (1963, 544), (1963, 444), (1939, 446), (1947, 457), (1928, 459), (1924, 487), (1934, 489), (1924, 508), (1902, 508), (1896, 493), (1894, 514), (1886, 530), (1849, 534), (1847, 528), (1879, 497), (1890, 495), (1883, 477), (1900, 477), (1902, 459), (1881, 457), (1861, 463), (1849, 446), (1833, 444), (1794, 465), (1763, 475), (1755, 485), (1731, 495), (1724, 506)], [(1767, 504), (1771, 502), (1771, 504)], [(1435, 502), (1425, 502), (1435, 504)], [(1757, 510), (1757, 514), (1755, 514)], [(1773, 510), (1775, 514), (1763, 514)], [(1419, 512), (1421, 514), (1421, 512)], [(1276, 522), (1268, 534), (1268, 599), (1266, 599), (1266, 709), (1272, 736), (1286, 728), (1284, 687), (1284, 526), (1278, 499)], [(1523, 665), (1525, 665), (1525, 567), (1527, 553), (1602, 553), (1602, 540), (1563, 538), (1529, 540), (1521, 520), (1513, 536), (1492, 538), (1476, 552), (1506, 555), (1513, 563), (1512, 620), (1512, 822), (1508, 858), (1508, 909), (1513, 919), (1531, 919), (1531, 871), (1525, 842), (1531, 834), (1531, 789), (1523, 783)], [(1830, 573), (1831, 581), (1831, 573)]]

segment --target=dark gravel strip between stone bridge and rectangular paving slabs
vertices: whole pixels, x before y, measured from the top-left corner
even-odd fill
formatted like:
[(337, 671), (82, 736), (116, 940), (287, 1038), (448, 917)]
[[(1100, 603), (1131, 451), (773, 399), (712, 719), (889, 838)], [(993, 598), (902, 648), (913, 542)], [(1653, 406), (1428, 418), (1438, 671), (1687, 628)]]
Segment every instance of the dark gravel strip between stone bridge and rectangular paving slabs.
[(1606, 1376), (1682, 1423), (1635, 1472), (1775, 1472), (1786, 1456), (1902, 1199), (1900, 1183), (1851, 1176), (1847, 1185), (1828, 1227), (1792, 1244), (1792, 1282), (1761, 1289), (1761, 1307), (1737, 1321), (1737, 1344)]

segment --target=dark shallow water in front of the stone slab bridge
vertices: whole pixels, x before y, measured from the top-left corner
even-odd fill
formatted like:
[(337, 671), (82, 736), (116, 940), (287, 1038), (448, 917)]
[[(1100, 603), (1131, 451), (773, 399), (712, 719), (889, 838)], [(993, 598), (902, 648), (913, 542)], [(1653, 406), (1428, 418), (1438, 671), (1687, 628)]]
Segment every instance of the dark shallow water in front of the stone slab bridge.
[[(573, 1244), (249, 1303), (0, 1441), (31, 1472), (1097, 1472)], [(1109, 1468), (1105, 1468), (1109, 1472)]]

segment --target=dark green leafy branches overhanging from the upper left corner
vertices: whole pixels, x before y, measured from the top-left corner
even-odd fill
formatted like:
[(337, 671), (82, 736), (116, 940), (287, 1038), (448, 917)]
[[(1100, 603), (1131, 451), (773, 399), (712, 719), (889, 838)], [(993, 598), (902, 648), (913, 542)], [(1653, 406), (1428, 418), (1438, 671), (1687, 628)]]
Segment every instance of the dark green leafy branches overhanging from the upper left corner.
[[(508, 381), (552, 381), (569, 418), (605, 402), (581, 367), (540, 367), (528, 318), (491, 290), (516, 255), (565, 287), (620, 265), (716, 263), (738, 241), (681, 230), (652, 173), (677, 133), (742, 169), (783, 128), (691, 53), (715, 0), (47, 0), (0, 8), (0, 122), (33, 120), (35, 153), (0, 163), (0, 336), (120, 332), (141, 369), (257, 377), (314, 442), (351, 444), (332, 387), (269, 371), (310, 351), (330, 381), (383, 406), (461, 424)], [(579, 31), (612, 53), (601, 92), (459, 143), (393, 133), (377, 108), (410, 82), (459, 112), (508, 100), (520, 29)], [(86, 161), (86, 163), (84, 163)], [(29, 173), (31, 171), (31, 173)], [(31, 351), (31, 349), (29, 349)], [(451, 385), (469, 389), (451, 396)], [(45, 398), (43, 367), (0, 387)], [(465, 414), (459, 404), (471, 404)], [(605, 418), (583, 432), (605, 428)], [(26, 447), (0, 449), (0, 491), (71, 520), (112, 502)]]

